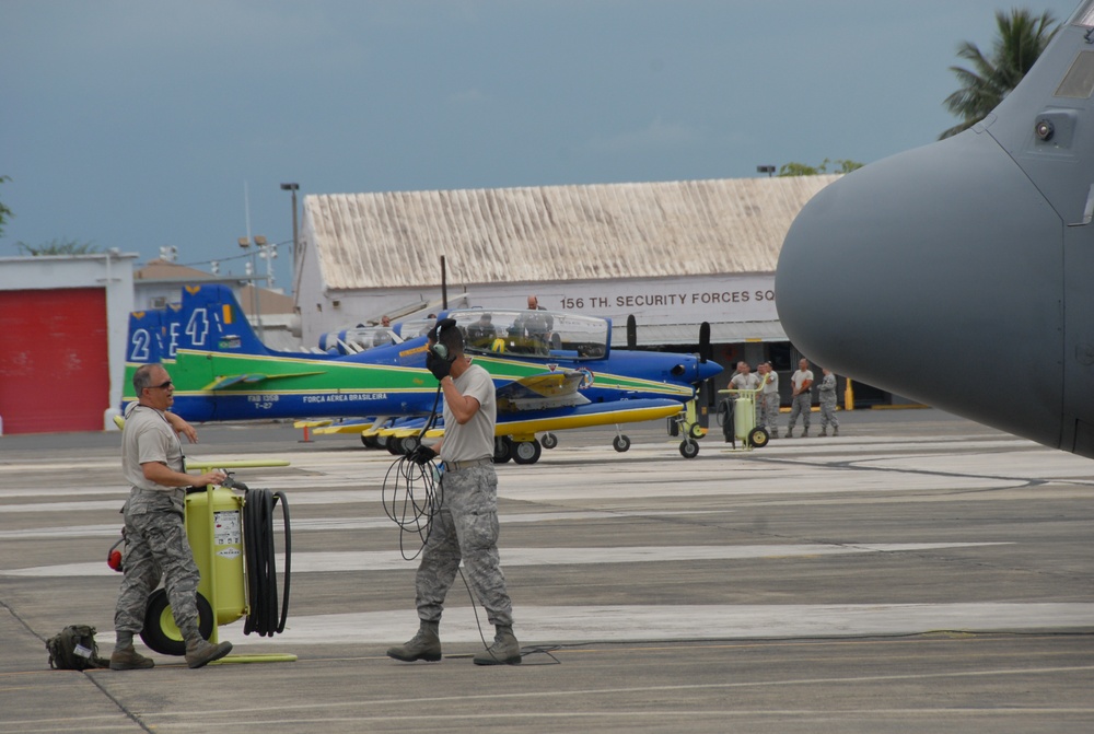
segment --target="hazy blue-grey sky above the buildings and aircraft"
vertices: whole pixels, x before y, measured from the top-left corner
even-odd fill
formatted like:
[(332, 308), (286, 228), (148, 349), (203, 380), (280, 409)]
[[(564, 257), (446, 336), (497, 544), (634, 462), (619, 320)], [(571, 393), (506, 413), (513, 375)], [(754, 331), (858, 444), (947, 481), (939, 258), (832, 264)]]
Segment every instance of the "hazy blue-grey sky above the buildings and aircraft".
[[(243, 273), (290, 197), (755, 176), (955, 124), (957, 45), (1078, 0), (0, 0), (15, 243)], [(234, 259), (231, 259), (234, 258)], [(260, 266), (264, 269), (265, 266)], [(289, 288), (288, 247), (277, 287)]]

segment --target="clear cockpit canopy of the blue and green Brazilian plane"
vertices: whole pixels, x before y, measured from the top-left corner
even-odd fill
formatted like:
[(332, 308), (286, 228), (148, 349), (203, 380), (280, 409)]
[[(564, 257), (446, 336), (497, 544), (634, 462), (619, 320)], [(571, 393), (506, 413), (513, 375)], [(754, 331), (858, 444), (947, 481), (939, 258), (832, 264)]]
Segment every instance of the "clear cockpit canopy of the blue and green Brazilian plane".
[(594, 316), (555, 311), (450, 311), (469, 353), (524, 354), (559, 359), (603, 359), (610, 324)]

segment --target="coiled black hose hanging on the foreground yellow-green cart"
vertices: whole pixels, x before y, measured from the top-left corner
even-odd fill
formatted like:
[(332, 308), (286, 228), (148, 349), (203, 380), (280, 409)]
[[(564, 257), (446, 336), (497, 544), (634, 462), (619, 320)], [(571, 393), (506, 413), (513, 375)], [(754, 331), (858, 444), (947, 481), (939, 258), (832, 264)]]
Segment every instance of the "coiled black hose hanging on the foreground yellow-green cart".
[[(240, 482), (235, 483), (240, 487)], [(274, 506), (280, 500), (284, 520), (284, 592), (281, 617), (278, 619), (277, 562), (274, 550)], [(289, 616), (289, 571), (292, 559), (292, 536), (289, 531), (289, 503), (284, 492), (246, 488), (243, 503), (243, 545), (246, 558), (247, 601), (249, 613), (243, 633), (258, 632), (274, 637), (284, 631)]]

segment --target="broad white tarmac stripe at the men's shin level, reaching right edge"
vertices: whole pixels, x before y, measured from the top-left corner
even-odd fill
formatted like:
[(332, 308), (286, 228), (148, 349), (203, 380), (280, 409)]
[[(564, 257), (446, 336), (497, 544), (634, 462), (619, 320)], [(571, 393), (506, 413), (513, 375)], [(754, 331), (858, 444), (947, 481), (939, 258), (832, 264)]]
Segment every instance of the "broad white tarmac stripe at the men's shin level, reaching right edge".
[[(453, 596), (456, 596), (453, 594)], [(455, 601), (455, 599), (453, 599)], [(761, 604), (521, 606), (513, 609), (522, 645), (589, 642), (884, 637), (940, 631), (1005, 632), (1094, 628), (1094, 604)], [(478, 610), (484, 627), (485, 614)], [(234, 645), (401, 642), (417, 629), (412, 607), (291, 617), (277, 642), (243, 633), (243, 620), (218, 629)], [(487, 638), (491, 637), (487, 630)], [(113, 638), (110, 632), (104, 636)], [(445, 643), (481, 644), (468, 606), (446, 605)], [(113, 642), (113, 640), (110, 640)], [(100, 641), (100, 646), (104, 642)], [(454, 651), (453, 651), (454, 652)]]

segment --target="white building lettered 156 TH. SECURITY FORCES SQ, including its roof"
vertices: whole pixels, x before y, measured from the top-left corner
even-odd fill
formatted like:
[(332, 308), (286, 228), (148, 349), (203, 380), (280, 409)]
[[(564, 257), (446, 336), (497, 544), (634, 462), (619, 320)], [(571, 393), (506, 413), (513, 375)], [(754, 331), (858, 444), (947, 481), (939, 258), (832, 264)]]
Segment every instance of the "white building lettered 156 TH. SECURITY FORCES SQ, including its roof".
[[(639, 346), (694, 349), (708, 322), (723, 365), (796, 361), (775, 269), (794, 217), (836, 178), (307, 196), (293, 284), (303, 342), (439, 311), (443, 257), (451, 307), (523, 308), (535, 294), (549, 310), (610, 317), (614, 346), (633, 315)], [(778, 342), (784, 359), (771, 354)]]

